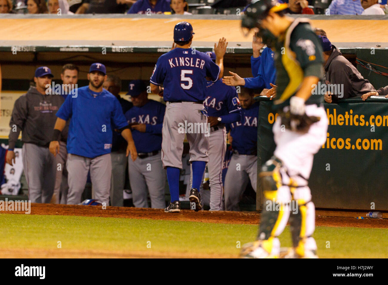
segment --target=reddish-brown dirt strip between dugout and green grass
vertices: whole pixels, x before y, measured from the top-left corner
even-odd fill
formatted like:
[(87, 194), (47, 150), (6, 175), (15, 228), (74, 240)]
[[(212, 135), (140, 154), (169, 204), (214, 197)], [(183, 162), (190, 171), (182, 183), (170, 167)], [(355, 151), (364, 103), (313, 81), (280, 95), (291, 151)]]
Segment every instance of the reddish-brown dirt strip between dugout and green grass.
[[(21, 211), (2, 211), (9, 214), (24, 214)], [(88, 216), (104, 218), (131, 218), (131, 219), (166, 219), (174, 221), (194, 221), (202, 223), (227, 223), (258, 225), (260, 214), (257, 212), (194, 212), (182, 210), (180, 213), (165, 213), (162, 209), (146, 209), (133, 207), (107, 207), (79, 206), (79, 205), (55, 205), (55, 204), (31, 204), (32, 215), (66, 215)], [(328, 217), (319, 216), (315, 219), (316, 226), (346, 226), (356, 228), (388, 228), (388, 219), (357, 219), (354, 217)]]

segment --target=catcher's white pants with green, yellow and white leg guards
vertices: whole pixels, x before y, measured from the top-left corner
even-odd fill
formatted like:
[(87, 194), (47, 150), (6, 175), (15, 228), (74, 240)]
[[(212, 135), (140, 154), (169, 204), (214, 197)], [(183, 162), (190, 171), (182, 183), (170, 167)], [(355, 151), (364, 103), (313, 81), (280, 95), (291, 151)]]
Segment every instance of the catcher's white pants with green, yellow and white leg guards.
[[(263, 240), (263, 247), (268, 252), (277, 252), (272, 247), (280, 247), (277, 236), (282, 233), (288, 220), (296, 252), (303, 256), (305, 249), (317, 249), (311, 237), (315, 229), (315, 206), (311, 201), (308, 179), (314, 154), (326, 141), (327, 116), (324, 107), (317, 105), (306, 105), (305, 110), (308, 116), (320, 117), (320, 121), (312, 124), (307, 133), (285, 129), (280, 117), (273, 126), (276, 143), (274, 156), (281, 163), (275, 161), (278, 167), (273, 172), (267, 172), (267, 179), (270, 174), (273, 183), (272, 187), (263, 187), (265, 199), (258, 233), (258, 239)], [(270, 160), (266, 165), (272, 166), (272, 162)]]

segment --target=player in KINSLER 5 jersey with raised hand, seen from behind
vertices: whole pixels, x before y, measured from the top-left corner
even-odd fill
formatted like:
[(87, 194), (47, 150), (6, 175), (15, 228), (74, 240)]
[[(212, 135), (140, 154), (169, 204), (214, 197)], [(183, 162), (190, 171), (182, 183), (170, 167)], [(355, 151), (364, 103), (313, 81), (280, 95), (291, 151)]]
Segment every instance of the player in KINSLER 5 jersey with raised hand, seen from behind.
[(193, 35), (190, 23), (175, 25), (174, 42), (177, 47), (159, 57), (150, 79), (151, 91), (156, 94), (163, 92), (163, 99), (167, 102), (162, 128), (162, 161), (167, 171), (171, 201), (165, 212), (180, 212), (179, 173), (185, 134), (190, 144), (193, 177), (189, 196), (191, 209), (202, 209), (199, 187), (209, 161), (208, 120), (203, 106), (205, 77), (210, 77), (213, 82), (222, 77), (227, 43), (223, 38), (215, 45), (217, 59), (214, 63), (207, 54), (190, 48)]

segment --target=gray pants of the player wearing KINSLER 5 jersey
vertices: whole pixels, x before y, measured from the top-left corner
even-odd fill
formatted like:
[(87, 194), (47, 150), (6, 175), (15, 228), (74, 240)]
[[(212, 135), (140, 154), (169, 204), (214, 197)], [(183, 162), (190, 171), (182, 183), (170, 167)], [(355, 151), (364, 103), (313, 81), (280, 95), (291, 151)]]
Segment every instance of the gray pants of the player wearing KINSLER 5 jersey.
[[(182, 169), (185, 135), (190, 145), (190, 162), (209, 161), (210, 130), (208, 130), (208, 118), (201, 112), (203, 108), (203, 104), (193, 102), (167, 102), (162, 128), (163, 167), (172, 166)], [(185, 124), (188, 127), (193, 126), (192, 129), (185, 130)]]

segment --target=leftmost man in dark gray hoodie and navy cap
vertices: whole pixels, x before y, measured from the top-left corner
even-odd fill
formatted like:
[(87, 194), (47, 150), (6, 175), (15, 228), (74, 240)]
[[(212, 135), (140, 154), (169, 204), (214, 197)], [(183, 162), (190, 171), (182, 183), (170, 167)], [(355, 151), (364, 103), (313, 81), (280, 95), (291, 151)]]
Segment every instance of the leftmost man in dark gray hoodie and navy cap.
[(6, 161), (15, 162), (14, 147), (22, 131), (23, 168), (28, 185), (28, 199), (32, 203), (50, 203), (54, 192), (56, 165), (49, 144), (54, 133), (56, 112), (64, 98), (54, 93), (53, 75), (47, 66), (38, 67), (34, 81), (36, 87), (15, 101), (10, 120), (9, 148)]

